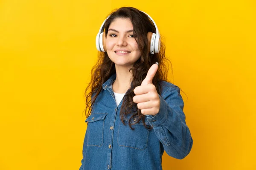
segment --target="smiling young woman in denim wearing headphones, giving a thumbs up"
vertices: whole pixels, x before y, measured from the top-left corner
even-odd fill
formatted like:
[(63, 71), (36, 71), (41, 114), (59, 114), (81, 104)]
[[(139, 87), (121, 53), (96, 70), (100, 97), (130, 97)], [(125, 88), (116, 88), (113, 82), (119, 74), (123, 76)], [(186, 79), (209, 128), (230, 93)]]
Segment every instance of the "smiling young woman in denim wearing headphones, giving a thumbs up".
[(102, 24), (96, 46), (101, 52), (85, 93), (80, 170), (162, 170), (164, 150), (176, 159), (187, 156), (193, 140), (180, 89), (167, 82), (154, 20), (119, 8)]

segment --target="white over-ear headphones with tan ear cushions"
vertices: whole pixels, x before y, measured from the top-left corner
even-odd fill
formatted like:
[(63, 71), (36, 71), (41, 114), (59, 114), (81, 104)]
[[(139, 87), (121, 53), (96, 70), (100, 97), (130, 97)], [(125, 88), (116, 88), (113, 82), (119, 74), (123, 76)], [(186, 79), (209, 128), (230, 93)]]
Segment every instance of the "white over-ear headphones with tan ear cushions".
[[(143, 13), (145, 13), (145, 12), (143, 12)], [(159, 51), (160, 51), (160, 33), (158, 32), (157, 25), (154, 22), (154, 20), (148, 14), (146, 14), (146, 15), (154, 23), (154, 26), (155, 26), (156, 32), (157, 32), (157, 33), (148, 32), (148, 34), (147, 34), (148, 42), (150, 42), (149, 43), (150, 53), (151, 54), (159, 53)], [(108, 17), (110, 17), (110, 16), (108, 16)], [(99, 33), (96, 36), (96, 48), (98, 51), (102, 51), (102, 52), (106, 52), (106, 43), (105, 43), (106, 37), (105, 37), (105, 32), (104, 32), (103, 26), (104, 26), (106, 20), (108, 20), (108, 17), (102, 23), (101, 27), (99, 28)]]

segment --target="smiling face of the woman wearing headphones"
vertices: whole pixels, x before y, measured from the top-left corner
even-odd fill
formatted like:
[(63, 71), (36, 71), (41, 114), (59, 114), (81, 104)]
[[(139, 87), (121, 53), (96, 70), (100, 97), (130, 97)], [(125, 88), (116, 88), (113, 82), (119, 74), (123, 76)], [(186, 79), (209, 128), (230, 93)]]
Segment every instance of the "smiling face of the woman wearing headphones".
[(133, 25), (129, 18), (116, 18), (108, 28), (106, 38), (108, 57), (116, 65), (131, 67), (141, 52), (135, 41)]

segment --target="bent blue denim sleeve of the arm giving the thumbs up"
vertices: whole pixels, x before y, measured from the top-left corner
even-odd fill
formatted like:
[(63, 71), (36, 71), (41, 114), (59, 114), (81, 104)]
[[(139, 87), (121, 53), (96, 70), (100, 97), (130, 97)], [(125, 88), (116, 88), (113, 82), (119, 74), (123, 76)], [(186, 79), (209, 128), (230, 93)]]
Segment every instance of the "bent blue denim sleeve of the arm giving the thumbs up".
[(180, 88), (173, 86), (162, 96), (159, 95), (159, 112), (154, 116), (146, 115), (146, 117), (166, 153), (176, 159), (183, 159), (189, 154), (193, 139), (185, 122)]

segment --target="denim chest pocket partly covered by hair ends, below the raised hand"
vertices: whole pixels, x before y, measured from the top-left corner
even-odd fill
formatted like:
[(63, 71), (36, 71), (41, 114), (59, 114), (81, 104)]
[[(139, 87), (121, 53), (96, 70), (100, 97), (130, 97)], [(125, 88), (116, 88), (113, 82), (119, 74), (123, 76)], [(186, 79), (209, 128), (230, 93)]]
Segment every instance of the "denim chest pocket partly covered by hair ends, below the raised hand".
[[(136, 118), (135, 118), (136, 119)], [(134, 121), (136, 122), (136, 120)], [(129, 127), (129, 117), (125, 120), (125, 125), (120, 120), (118, 127), (117, 143), (120, 147), (130, 147), (137, 150), (145, 150), (148, 144), (148, 135), (150, 130), (147, 130), (142, 120), (135, 125), (132, 125), (134, 130)], [(147, 119), (145, 124), (150, 125)]]

